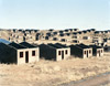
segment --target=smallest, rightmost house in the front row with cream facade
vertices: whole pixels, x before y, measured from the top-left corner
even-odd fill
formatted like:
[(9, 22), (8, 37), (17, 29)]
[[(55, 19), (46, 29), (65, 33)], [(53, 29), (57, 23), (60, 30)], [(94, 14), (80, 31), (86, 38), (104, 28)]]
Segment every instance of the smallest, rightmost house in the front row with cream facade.
[(103, 47), (101, 46), (97, 46), (97, 45), (89, 45), (90, 47), (92, 47), (92, 55), (94, 56), (103, 56)]

